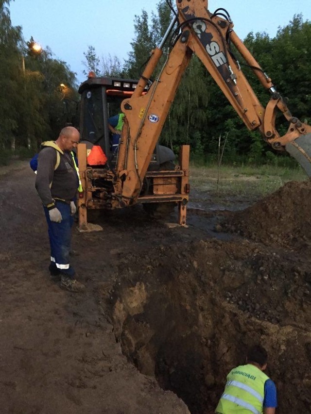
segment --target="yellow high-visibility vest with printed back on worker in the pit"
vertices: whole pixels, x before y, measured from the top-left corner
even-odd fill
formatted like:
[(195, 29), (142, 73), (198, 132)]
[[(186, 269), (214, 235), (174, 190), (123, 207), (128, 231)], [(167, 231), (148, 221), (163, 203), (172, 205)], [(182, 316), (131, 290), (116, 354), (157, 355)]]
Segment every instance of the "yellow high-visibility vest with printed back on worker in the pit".
[(225, 391), (215, 413), (262, 414), (264, 383), (269, 377), (253, 364), (240, 365), (227, 375)]

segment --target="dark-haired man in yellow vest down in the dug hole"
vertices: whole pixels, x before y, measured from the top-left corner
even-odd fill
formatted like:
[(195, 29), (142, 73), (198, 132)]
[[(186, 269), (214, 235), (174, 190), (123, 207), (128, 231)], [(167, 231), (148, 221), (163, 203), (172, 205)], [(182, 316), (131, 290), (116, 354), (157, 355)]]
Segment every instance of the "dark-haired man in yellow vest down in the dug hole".
[(260, 345), (247, 353), (246, 365), (231, 369), (216, 414), (275, 414), (276, 385), (263, 373), (268, 354)]

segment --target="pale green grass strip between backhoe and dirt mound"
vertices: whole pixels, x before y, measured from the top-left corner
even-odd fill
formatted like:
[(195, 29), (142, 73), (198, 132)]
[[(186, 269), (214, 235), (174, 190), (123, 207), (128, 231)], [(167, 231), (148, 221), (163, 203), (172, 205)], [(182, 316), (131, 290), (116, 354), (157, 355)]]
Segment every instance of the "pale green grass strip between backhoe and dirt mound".
[(190, 185), (216, 197), (243, 196), (261, 198), (273, 193), (286, 182), (309, 178), (302, 168), (280, 166), (195, 166), (190, 165)]

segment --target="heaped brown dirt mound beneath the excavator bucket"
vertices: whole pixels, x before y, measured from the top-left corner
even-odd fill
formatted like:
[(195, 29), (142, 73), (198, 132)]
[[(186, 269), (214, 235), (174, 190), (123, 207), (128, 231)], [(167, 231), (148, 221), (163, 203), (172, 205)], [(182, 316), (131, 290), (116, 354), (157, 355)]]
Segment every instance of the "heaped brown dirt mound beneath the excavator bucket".
[(288, 182), (224, 224), (230, 232), (265, 244), (311, 246), (311, 181)]

